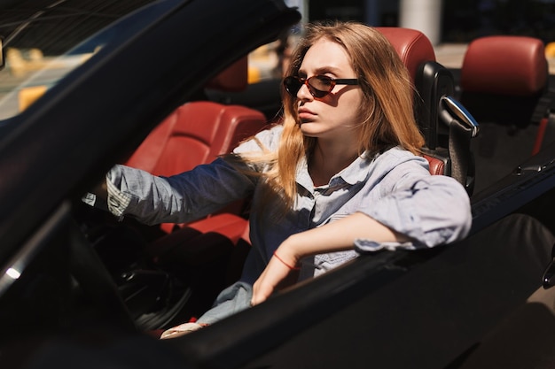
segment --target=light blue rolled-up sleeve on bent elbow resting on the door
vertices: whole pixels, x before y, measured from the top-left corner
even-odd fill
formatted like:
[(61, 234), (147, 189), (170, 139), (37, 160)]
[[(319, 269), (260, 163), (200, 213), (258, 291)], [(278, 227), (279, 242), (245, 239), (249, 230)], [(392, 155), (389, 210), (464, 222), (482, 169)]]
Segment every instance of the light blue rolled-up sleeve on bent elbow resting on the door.
[[(433, 247), (455, 242), (472, 225), (470, 199), (465, 188), (451, 177), (430, 175), (424, 160), (396, 165), (381, 181), (379, 196), (364, 202), (359, 211), (405, 234), (411, 242), (402, 248)], [(356, 240), (363, 249), (372, 240)]]

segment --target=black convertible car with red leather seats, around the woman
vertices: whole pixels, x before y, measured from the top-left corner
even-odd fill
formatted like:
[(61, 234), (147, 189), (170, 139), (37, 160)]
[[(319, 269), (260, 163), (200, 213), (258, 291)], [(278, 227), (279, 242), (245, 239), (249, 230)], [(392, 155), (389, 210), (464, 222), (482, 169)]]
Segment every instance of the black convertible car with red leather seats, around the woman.
[(145, 227), (83, 203), (115, 163), (168, 175), (279, 119), (252, 50), (279, 0), (0, 0), (0, 365), (12, 368), (547, 368), (555, 365), (555, 141), (543, 42), (471, 42), (460, 69), (379, 30), (415, 85), (423, 155), (473, 229), (379, 250), (171, 340), (236, 281), (248, 200)]

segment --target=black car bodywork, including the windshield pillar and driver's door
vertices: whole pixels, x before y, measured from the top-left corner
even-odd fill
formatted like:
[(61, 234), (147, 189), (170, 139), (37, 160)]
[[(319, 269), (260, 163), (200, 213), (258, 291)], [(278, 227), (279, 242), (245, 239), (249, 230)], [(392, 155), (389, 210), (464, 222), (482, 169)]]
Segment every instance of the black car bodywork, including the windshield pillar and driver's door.
[[(4, 47), (25, 47), (23, 35), (43, 14), (51, 15), (54, 34), (90, 21), (84, 31), (100, 31), (93, 40), (106, 44), (27, 110), (0, 122), (0, 362), (203, 368), (553, 363), (554, 316), (549, 304), (530, 298), (543, 292), (555, 241), (553, 146), (473, 195), (473, 230), (462, 242), (357, 258), (175, 340), (159, 342), (137, 331), (82, 233), (76, 216), (82, 194), (216, 73), (276, 40), (300, 16), (271, 0), (67, 0), (52, 8), (66, 13), (49, 13), (47, 2), (16, 3), (0, 2), (0, 31), (20, 33), (20, 39), (3, 35)], [(77, 46), (71, 37), (57, 40), (44, 50)]]

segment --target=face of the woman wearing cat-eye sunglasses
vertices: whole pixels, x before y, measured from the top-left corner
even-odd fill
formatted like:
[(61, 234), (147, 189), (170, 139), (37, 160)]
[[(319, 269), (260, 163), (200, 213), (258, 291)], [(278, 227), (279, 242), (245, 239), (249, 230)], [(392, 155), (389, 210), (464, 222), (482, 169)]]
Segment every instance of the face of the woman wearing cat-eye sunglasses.
[[(336, 42), (322, 38), (307, 51), (299, 69), (299, 77), (324, 75), (332, 79), (356, 79), (347, 52)], [(332, 91), (315, 97), (306, 85), (297, 93), (301, 131), (319, 139), (356, 139), (362, 89), (356, 85), (335, 85)]]

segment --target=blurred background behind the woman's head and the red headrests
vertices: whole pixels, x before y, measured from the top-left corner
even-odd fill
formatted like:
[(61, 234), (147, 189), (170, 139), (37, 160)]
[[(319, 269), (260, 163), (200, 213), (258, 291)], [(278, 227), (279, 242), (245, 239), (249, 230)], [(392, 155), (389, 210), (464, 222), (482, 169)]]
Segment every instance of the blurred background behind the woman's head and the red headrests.
[[(438, 62), (460, 68), (468, 42), (485, 35), (528, 35), (546, 45), (555, 73), (555, 0), (285, 0), (299, 9), (303, 22), (356, 20), (375, 27), (408, 27), (434, 44)], [(294, 27), (294, 43), (301, 25)], [(553, 43), (551, 43), (553, 42)], [(249, 58), (250, 81), (275, 76), (284, 42), (256, 50)]]

